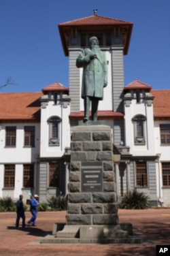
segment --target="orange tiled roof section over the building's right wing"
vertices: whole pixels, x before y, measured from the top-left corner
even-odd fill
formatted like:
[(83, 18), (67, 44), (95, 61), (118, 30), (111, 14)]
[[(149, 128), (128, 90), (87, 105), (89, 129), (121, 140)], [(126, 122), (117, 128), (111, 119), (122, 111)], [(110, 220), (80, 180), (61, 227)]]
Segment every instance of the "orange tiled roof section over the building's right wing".
[(152, 90), (154, 118), (170, 118), (170, 90)]

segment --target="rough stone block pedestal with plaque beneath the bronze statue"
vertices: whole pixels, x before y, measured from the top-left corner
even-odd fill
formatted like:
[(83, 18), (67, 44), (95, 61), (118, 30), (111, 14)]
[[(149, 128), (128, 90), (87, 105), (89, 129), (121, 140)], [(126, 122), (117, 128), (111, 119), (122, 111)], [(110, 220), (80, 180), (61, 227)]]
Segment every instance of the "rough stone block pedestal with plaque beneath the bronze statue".
[(107, 125), (74, 127), (67, 225), (117, 225), (112, 131)]

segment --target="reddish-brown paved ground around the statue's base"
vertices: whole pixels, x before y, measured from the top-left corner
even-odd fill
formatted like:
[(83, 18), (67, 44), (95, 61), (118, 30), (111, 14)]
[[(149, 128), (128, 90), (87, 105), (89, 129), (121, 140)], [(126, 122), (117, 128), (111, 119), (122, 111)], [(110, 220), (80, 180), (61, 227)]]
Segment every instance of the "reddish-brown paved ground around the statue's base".
[[(0, 213), (0, 255), (3, 256), (155, 256), (156, 244), (170, 244), (170, 209), (119, 210), (120, 222), (131, 222), (146, 244), (34, 244), (63, 223), (66, 212), (39, 212), (37, 227), (16, 229), (16, 213)], [(27, 220), (30, 213), (26, 213)]]

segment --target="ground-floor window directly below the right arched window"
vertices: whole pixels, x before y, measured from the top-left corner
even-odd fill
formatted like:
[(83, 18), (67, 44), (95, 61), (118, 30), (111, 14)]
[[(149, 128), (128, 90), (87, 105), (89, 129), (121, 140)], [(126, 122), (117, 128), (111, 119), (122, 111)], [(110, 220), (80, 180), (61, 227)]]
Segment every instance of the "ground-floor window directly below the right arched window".
[(148, 187), (146, 162), (136, 162), (136, 185), (137, 187)]

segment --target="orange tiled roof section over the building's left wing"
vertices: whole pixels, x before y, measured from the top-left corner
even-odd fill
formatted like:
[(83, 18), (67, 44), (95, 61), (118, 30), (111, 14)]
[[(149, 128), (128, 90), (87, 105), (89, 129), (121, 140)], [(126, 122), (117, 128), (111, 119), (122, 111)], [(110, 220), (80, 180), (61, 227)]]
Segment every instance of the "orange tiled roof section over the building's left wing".
[(0, 93), (0, 122), (39, 121), (42, 93)]

